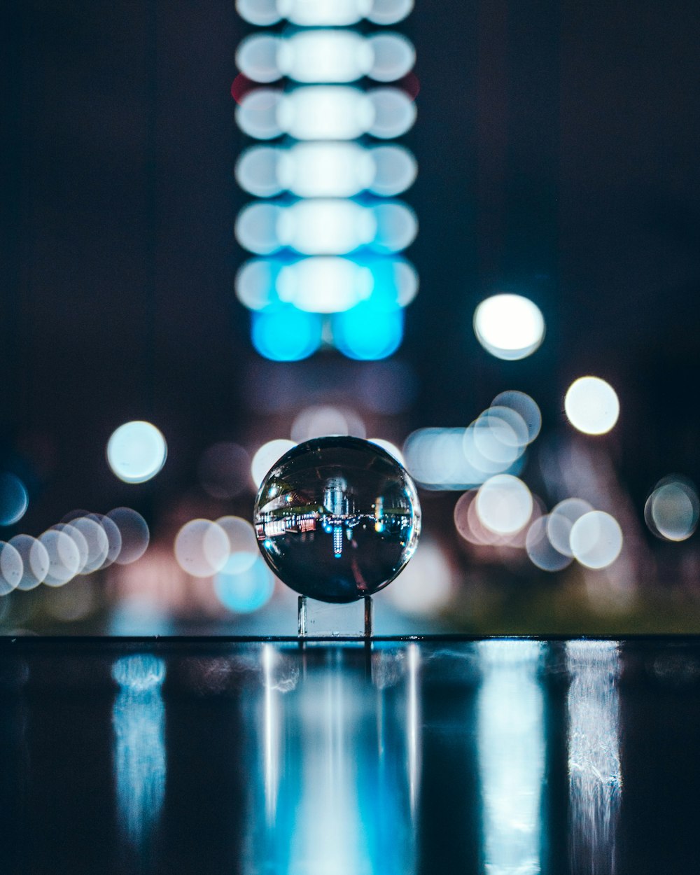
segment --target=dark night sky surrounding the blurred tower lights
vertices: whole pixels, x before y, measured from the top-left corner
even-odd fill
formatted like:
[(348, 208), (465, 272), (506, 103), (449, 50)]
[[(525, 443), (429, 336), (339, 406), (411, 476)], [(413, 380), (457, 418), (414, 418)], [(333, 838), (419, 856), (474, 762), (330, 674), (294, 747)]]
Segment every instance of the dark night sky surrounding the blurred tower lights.
[[(133, 502), (104, 463), (125, 419), (168, 438), (149, 500), (193, 486), (215, 439), (281, 435), (246, 399), (259, 361), (233, 291), (234, 4), (24, 0), (3, 15), (4, 450), (38, 478), (38, 528)], [(554, 429), (589, 372), (620, 393), (633, 493), (700, 475), (699, 17), (673, 0), (418, 0), (402, 30), (421, 82), (406, 142), (422, 287), (399, 353), (418, 395), (397, 437), (466, 424), (504, 388)], [(548, 323), (515, 363), (471, 330), (480, 298), (507, 288)], [(369, 367), (336, 364), (263, 379), (324, 383), (332, 400)]]

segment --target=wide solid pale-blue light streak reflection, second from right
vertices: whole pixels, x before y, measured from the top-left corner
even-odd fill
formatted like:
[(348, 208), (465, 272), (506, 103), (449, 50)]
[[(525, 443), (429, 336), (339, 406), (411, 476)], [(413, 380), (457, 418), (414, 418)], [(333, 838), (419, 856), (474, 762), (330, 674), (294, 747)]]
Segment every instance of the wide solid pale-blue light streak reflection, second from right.
[(483, 855), (489, 875), (542, 872), (543, 697), (539, 641), (484, 641), (477, 705)]

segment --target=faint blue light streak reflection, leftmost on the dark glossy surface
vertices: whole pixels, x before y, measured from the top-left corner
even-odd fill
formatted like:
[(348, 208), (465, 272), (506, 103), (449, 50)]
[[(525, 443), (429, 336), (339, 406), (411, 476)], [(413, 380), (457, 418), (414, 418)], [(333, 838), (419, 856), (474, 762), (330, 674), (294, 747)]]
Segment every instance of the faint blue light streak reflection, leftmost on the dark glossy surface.
[(165, 663), (124, 656), (112, 676), (120, 687), (112, 711), (117, 806), (126, 837), (139, 848), (158, 823), (165, 795)]

